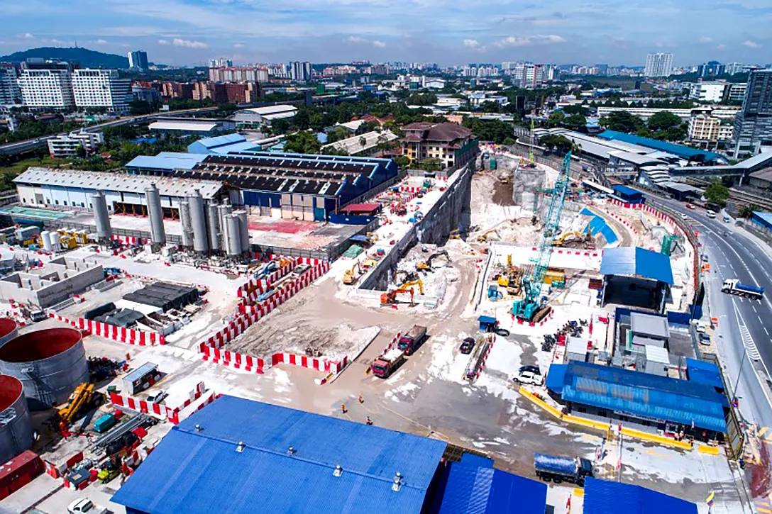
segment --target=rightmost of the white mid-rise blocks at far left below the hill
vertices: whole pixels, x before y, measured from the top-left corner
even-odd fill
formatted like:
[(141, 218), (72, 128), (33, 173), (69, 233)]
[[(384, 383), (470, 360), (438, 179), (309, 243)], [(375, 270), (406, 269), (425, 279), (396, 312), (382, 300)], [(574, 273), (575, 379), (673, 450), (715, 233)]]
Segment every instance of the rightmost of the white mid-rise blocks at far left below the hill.
[(134, 100), (131, 80), (121, 79), (117, 69), (75, 69), (72, 83), (76, 107), (107, 107), (122, 113)]

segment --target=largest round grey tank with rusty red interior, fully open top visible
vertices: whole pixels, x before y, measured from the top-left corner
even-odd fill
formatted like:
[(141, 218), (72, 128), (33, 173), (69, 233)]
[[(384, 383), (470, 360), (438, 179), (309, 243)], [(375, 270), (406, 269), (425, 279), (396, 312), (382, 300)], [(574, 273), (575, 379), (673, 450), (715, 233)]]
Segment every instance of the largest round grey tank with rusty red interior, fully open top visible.
[(0, 374), (24, 384), (33, 411), (60, 404), (89, 380), (80, 330), (52, 328), (16, 337), (0, 347)]

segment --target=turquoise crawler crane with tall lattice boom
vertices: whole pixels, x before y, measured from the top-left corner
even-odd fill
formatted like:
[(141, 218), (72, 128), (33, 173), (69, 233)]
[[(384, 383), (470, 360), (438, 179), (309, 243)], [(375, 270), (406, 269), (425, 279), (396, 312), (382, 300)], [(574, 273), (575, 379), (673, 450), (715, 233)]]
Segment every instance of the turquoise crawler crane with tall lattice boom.
[(523, 277), (525, 296), (512, 304), (512, 313), (520, 320), (533, 320), (534, 314), (542, 306), (541, 286), (544, 283), (544, 274), (550, 267), (552, 246), (555, 238), (560, 235), (560, 214), (563, 212), (570, 174), (571, 152), (569, 151), (563, 160), (563, 165), (560, 166), (560, 174), (557, 176), (554, 187), (545, 191), (551, 196), (550, 210), (547, 211), (547, 221), (544, 222), (539, 254), (535, 259), (531, 259), (531, 262), (534, 263), (533, 269), (530, 275)]

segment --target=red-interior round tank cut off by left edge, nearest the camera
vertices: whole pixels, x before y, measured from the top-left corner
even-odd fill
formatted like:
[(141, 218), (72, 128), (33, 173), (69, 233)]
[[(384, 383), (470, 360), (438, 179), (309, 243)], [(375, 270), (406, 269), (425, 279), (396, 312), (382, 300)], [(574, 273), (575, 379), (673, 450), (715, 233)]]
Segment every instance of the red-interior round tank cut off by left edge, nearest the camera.
[(0, 375), (0, 462), (8, 462), (32, 448), (34, 438), (22, 382)]

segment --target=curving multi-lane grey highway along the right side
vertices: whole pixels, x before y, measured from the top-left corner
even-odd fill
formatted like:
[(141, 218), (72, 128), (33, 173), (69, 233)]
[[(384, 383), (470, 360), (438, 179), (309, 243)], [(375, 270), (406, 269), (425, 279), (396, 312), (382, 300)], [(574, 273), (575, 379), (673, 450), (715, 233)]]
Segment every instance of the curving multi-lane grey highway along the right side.
[[(772, 370), (772, 259), (755, 242), (719, 218), (708, 218), (705, 211), (690, 211), (679, 201), (661, 201), (667, 207), (689, 216), (699, 232), (703, 253), (708, 255), (710, 274), (706, 289), (711, 316), (719, 319), (717, 345), (732, 387), (737, 384), (740, 412), (748, 421), (772, 427), (772, 398), (760, 387), (763, 374), (753, 372), (754, 348), (760, 362), (757, 367)], [(726, 235), (724, 235), (726, 233)], [(764, 287), (762, 300), (741, 299), (721, 293), (725, 279)], [(740, 381), (737, 382), (738, 374)], [(767, 376), (769, 373), (767, 371)]]

